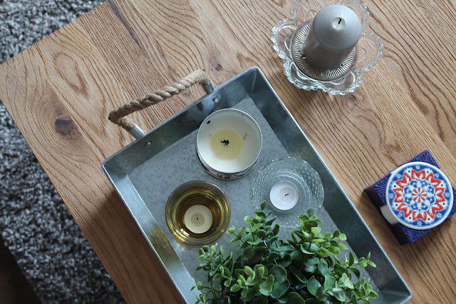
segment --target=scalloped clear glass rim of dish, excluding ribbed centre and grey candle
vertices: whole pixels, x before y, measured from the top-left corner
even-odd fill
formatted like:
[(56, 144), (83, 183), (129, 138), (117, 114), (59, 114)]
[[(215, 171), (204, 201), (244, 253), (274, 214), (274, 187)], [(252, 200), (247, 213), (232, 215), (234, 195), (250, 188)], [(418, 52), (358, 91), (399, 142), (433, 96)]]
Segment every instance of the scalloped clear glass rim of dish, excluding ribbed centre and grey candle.
[[(321, 81), (304, 74), (296, 66), (291, 49), (296, 31), (303, 24), (311, 24), (318, 11), (331, 4), (342, 4), (353, 9), (361, 20), (363, 31), (358, 44), (353, 49), (356, 61), (350, 69), (338, 78), (331, 79), (331, 81)], [(355, 91), (361, 85), (363, 72), (378, 64), (378, 61), (383, 57), (383, 43), (378, 36), (369, 30), (368, 18), (369, 13), (366, 4), (358, 1), (297, 0), (293, 11), (291, 11), (291, 19), (279, 21), (272, 28), (271, 36), (274, 50), (284, 60), (284, 74), (288, 80), (297, 88), (303, 88), (307, 91), (321, 89), (333, 95), (345, 95)]]

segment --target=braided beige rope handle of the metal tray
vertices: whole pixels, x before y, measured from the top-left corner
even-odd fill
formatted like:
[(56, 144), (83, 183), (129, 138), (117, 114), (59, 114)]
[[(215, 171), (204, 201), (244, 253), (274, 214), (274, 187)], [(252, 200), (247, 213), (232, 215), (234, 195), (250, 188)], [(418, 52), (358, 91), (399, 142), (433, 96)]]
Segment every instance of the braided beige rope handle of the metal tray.
[(136, 123), (130, 118), (125, 118), (125, 116), (135, 111), (140, 111), (143, 108), (147, 108), (148, 106), (152, 106), (160, 101), (164, 101), (171, 96), (177, 95), (185, 89), (190, 88), (190, 86), (193, 86), (195, 83), (207, 86), (210, 83), (209, 75), (202, 70), (194, 71), (192, 74), (185, 76), (170, 86), (165, 86), (160, 90), (153, 91), (146, 96), (137, 98), (133, 101), (125, 103), (123, 106), (113, 109), (113, 111), (110, 111), (108, 119), (122, 128), (125, 128), (125, 130), (130, 131), (135, 127)]

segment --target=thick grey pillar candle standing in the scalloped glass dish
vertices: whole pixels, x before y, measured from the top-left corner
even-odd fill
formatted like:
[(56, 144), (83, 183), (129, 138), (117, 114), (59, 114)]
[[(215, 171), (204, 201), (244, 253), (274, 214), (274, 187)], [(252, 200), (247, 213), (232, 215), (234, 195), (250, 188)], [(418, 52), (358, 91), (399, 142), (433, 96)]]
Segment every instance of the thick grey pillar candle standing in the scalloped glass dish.
[(306, 38), (306, 61), (314, 68), (340, 66), (361, 37), (361, 20), (347, 6), (334, 4), (318, 11)]

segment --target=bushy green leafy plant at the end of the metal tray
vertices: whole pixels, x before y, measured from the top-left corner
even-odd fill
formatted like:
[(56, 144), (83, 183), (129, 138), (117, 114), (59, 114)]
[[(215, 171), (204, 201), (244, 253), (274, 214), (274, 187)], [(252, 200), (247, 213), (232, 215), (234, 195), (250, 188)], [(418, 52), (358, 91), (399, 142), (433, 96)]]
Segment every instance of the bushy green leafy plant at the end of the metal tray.
[(194, 280), (192, 290), (201, 290), (197, 303), (369, 303), (378, 297), (358, 270), (375, 267), (371, 253), (359, 259), (349, 253), (339, 260), (340, 249), (347, 250), (340, 243), (346, 235), (338, 230), (322, 234), (313, 209), (299, 216), (301, 225), (291, 231), (291, 239), (280, 240), (279, 226), (272, 226), (275, 218), (269, 219), (265, 206), (244, 218), (248, 227), (227, 230), (242, 249), (235, 260), (233, 253), (224, 256), (222, 246), (217, 251), (217, 244), (199, 250), (197, 269), (207, 272), (208, 283)]

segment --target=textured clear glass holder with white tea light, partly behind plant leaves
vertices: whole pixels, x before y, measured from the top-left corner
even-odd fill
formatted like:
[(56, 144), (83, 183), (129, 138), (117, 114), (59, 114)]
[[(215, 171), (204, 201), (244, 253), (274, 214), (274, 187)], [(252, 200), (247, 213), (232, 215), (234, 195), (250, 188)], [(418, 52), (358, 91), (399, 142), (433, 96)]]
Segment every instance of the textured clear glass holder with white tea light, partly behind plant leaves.
[(324, 198), (318, 173), (306, 161), (281, 158), (261, 168), (250, 189), (254, 208), (266, 201), (266, 209), (281, 227), (295, 228), (309, 208), (318, 213)]

